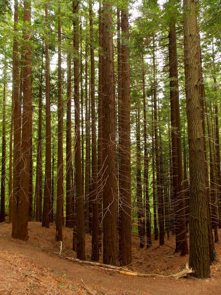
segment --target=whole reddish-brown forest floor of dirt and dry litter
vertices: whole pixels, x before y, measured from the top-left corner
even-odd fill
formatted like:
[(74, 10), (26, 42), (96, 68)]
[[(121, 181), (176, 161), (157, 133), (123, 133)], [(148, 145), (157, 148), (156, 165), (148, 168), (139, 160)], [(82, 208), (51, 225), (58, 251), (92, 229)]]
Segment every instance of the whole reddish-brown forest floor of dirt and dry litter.
[[(83, 266), (59, 257), (60, 242), (55, 241), (55, 225), (41, 227), (29, 222), (29, 240), (11, 237), (11, 224), (0, 224), (0, 295), (77, 294), (77, 295), (220, 295), (221, 242), (216, 243), (219, 261), (211, 266), (211, 278), (199, 280), (168, 277), (131, 277)], [(221, 230), (219, 231), (221, 240)], [(63, 227), (61, 256), (76, 257), (72, 250), (72, 230)], [(159, 247), (154, 241), (149, 249), (139, 248), (137, 234), (132, 234), (133, 262), (131, 270), (167, 275), (183, 270), (189, 256), (174, 254), (175, 237), (165, 239)], [(91, 236), (86, 235), (86, 259), (90, 260)], [(101, 260), (100, 260), (101, 261)]]

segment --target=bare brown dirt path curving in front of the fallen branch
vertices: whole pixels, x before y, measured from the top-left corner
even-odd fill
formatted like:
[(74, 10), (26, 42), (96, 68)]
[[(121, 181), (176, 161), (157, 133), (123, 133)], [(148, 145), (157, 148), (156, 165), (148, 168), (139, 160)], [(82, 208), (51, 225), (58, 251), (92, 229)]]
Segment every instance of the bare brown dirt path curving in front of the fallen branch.
[[(221, 294), (220, 276), (198, 280), (195, 278), (138, 278), (117, 273), (112, 274), (98, 268), (90, 268), (62, 260), (55, 254), (42, 251), (41, 248), (34, 248), (34, 245), (14, 240), (10, 235), (10, 227), (9, 224), (0, 225), (0, 250), (18, 252), (26, 258), (32, 259), (39, 266), (53, 269), (60, 274), (66, 273), (67, 278), (76, 283), (81, 282), (82, 279), (86, 284), (100, 285), (104, 289), (113, 290), (114, 294)], [(47, 231), (42, 227), (41, 230)], [(219, 272), (220, 268), (221, 266), (217, 265), (216, 269)]]

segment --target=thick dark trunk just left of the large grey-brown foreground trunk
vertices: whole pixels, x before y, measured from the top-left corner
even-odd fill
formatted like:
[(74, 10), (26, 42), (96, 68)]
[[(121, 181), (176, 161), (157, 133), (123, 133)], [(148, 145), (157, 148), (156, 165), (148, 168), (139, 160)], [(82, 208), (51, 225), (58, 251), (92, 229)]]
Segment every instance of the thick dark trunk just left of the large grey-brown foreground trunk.
[[(173, 187), (176, 210), (176, 250), (181, 250), (181, 255), (189, 253), (186, 235), (185, 202), (183, 194), (183, 162), (182, 162), (182, 138), (179, 107), (179, 81), (177, 65), (177, 37), (174, 19), (170, 21), (169, 29), (169, 77), (170, 77), (170, 108), (173, 162)], [(178, 228), (177, 228), (178, 227)]]

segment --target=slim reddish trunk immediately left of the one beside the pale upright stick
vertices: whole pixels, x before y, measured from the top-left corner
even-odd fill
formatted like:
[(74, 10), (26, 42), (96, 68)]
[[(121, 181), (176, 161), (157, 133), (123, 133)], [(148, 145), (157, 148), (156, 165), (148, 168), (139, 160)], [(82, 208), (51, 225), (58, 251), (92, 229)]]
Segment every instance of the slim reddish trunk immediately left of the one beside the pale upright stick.
[[(45, 7), (45, 22), (47, 26), (47, 23), (48, 23), (48, 6), (47, 5)], [(50, 213), (49, 209), (51, 207), (50, 206), (50, 203), (51, 203), (51, 101), (50, 101), (49, 39), (47, 35), (45, 38), (46, 38), (45, 39), (45, 98), (46, 98), (46, 108), (45, 108), (46, 134), (45, 136), (46, 136), (46, 142), (45, 142), (45, 176), (44, 176), (45, 178), (44, 178), (44, 203), (43, 203), (42, 226), (49, 227), (49, 213)]]

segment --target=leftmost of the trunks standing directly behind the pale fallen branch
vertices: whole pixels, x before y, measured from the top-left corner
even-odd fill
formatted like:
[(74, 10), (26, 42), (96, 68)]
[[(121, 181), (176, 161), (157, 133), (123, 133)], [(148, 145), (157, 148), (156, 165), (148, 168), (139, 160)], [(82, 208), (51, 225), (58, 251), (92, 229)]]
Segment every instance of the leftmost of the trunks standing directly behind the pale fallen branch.
[(85, 259), (84, 237), (84, 197), (81, 175), (81, 149), (80, 149), (80, 99), (79, 99), (79, 1), (73, 0), (73, 46), (76, 58), (74, 60), (74, 102), (75, 102), (75, 208), (77, 219), (76, 250), (77, 258)]

